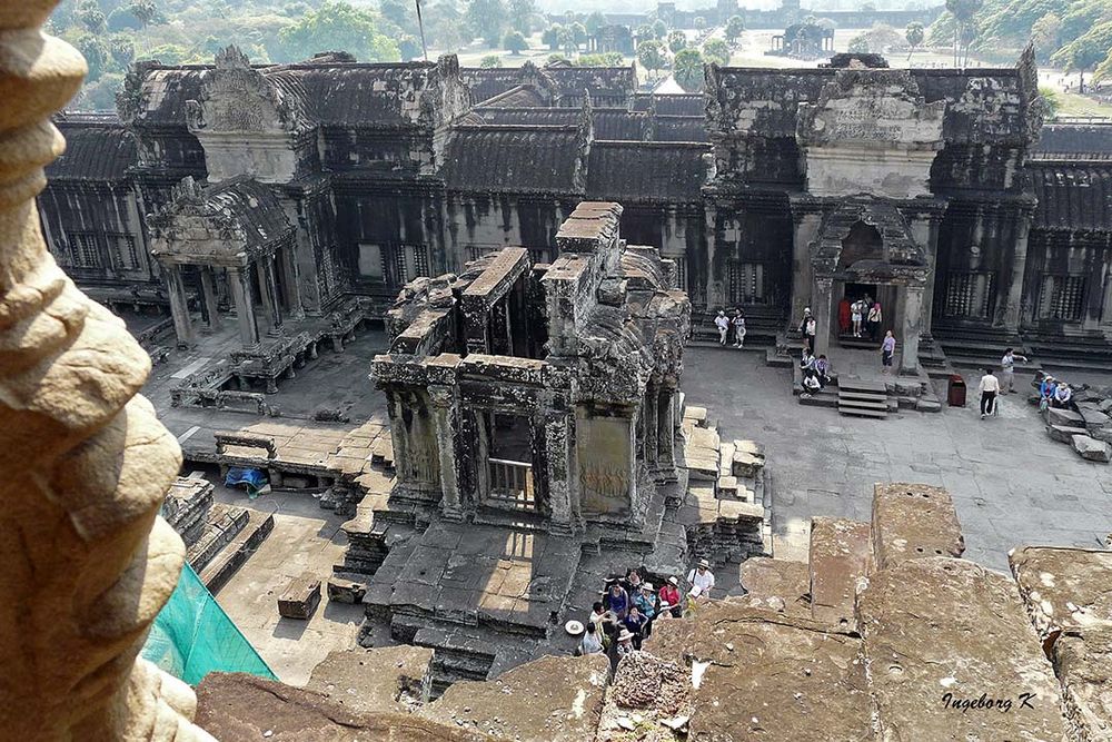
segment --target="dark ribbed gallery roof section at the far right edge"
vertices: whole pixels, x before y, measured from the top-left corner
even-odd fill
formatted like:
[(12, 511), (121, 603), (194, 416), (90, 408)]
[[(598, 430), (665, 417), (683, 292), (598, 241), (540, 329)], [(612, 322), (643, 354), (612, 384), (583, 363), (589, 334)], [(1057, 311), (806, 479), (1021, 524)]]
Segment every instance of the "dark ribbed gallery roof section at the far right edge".
[(1034, 228), (1112, 229), (1112, 161), (1034, 160), (1027, 171), (1039, 199)]

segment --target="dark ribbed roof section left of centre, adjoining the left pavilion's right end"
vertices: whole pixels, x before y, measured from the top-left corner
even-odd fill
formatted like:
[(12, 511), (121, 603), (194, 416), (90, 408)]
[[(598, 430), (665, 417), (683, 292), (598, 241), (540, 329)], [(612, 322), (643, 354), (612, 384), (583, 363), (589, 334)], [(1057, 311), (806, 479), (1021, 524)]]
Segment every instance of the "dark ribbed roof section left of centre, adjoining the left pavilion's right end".
[(448, 188), (493, 192), (578, 192), (578, 129), (542, 126), (461, 126), (445, 152)]

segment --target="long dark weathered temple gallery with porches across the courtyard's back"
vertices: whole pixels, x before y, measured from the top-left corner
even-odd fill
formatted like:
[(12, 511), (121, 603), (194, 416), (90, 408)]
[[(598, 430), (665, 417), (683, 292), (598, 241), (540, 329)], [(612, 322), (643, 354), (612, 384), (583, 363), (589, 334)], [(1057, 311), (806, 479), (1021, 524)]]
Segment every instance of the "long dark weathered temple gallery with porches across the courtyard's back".
[(39, 208), (70, 275), (171, 311), (181, 344), (234, 314), (266, 353), (353, 297), (385, 317), (406, 283), (505, 247), (550, 264), (594, 200), (675, 263), (696, 327), (739, 307), (771, 338), (810, 307), (823, 349), (843, 297), (870, 296), (905, 370), (921, 342), (1112, 358), (1112, 127), (1044, 126), (1030, 51), (706, 81), (649, 96), (632, 68), (259, 66), (235, 48), (145, 62), (118, 112), (59, 117), (69, 149)]

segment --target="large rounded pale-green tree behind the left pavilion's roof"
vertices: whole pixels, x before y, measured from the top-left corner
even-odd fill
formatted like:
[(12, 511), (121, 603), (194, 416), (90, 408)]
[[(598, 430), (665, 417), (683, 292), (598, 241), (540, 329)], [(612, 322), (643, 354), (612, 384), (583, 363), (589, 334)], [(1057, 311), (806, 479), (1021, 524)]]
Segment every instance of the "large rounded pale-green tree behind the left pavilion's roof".
[(311, 59), (320, 51), (347, 51), (370, 62), (401, 59), (398, 44), (379, 31), (373, 13), (334, 0), (325, 0), (320, 8), (284, 28), (278, 40), (282, 61)]

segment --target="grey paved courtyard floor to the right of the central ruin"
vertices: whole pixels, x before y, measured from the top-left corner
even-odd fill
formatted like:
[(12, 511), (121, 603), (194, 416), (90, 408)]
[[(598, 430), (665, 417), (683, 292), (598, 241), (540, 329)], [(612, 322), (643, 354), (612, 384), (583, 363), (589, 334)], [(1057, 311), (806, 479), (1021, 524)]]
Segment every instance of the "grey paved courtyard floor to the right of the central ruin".
[[(1007, 551), (1020, 545), (1103, 546), (1112, 532), (1112, 465), (1051, 441), (1025, 395), (1003, 397), (999, 416), (981, 421), (976, 379), (966, 383), (964, 408), (843, 417), (800, 405), (791, 369), (766, 366), (763, 352), (693, 347), (682, 386), (688, 404), (708, 408), (724, 438), (765, 445), (777, 556), (806, 558), (813, 515), (868, 521), (876, 482), (947, 488), (965, 556), (991, 568), (1006, 571)], [(936, 393), (945, 399), (945, 389)]]

